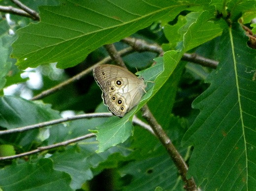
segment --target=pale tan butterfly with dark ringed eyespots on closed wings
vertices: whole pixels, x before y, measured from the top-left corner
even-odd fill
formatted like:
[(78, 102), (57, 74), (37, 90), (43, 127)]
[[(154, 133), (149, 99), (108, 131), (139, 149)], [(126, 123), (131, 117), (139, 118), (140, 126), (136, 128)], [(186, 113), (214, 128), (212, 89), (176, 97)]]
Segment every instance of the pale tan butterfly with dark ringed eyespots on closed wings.
[(94, 69), (94, 76), (103, 92), (104, 103), (114, 115), (123, 117), (138, 104), (144, 93), (143, 79), (120, 66), (97, 66)]

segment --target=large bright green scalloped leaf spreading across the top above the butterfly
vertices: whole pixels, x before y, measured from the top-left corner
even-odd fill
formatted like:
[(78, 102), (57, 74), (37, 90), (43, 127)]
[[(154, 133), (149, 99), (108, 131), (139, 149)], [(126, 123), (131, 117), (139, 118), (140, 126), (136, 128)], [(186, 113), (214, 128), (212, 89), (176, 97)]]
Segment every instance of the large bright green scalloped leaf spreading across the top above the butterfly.
[(188, 6), (208, 3), (197, 0), (63, 0), (59, 6), (40, 7), (40, 22), (17, 32), (19, 38), (12, 45), (12, 57), (18, 59), (17, 64), (23, 69), (54, 62), (61, 68), (71, 67), (97, 47), (119, 41), (166, 15), (172, 20)]

